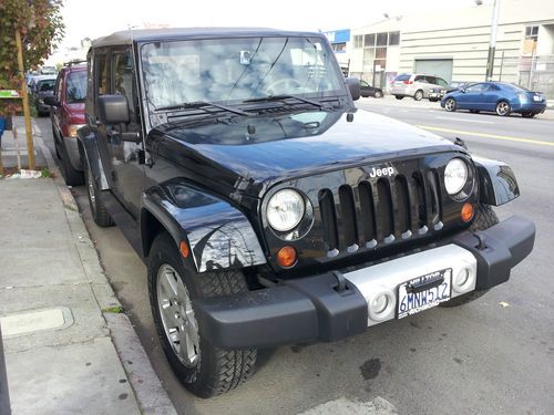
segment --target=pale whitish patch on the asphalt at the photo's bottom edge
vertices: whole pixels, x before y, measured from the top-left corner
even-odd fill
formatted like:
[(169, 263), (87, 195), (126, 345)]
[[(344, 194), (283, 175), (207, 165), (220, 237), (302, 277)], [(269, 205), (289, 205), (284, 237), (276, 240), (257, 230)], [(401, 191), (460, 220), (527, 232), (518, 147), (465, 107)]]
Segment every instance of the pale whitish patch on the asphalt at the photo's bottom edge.
[(398, 411), (389, 401), (377, 396), (370, 402), (352, 401), (345, 396), (326, 402), (298, 415), (397, 415)]

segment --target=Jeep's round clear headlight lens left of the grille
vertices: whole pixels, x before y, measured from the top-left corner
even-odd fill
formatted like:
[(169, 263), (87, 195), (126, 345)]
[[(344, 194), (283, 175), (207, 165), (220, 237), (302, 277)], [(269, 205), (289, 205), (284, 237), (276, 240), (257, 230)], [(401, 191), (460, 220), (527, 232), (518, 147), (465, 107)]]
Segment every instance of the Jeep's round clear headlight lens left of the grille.
[(298, 191), (284, 189), (271, 196), (267, 204), (267, 221), (279, 232), (286, 232), (296, 227), (304, 217), (306, 206)]

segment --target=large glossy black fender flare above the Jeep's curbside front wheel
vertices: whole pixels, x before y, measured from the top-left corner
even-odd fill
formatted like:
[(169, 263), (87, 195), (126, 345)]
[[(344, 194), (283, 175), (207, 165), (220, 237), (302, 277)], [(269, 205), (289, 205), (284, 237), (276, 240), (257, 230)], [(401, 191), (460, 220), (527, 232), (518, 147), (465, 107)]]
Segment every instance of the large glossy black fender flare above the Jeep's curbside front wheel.
[(256, 232), (244, 214), (229, 203), (182, 180), (171, 180), (143, 194), (143, 224), (153, 215), (178, 245), (187, 240), (197, 272), (242, 269), (266, 262)]

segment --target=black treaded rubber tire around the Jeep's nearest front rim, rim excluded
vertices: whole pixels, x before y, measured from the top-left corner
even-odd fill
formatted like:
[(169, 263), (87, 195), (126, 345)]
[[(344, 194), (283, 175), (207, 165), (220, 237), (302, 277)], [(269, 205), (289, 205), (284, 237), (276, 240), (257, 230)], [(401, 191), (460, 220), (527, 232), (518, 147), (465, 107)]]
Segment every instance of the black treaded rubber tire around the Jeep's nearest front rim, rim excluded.
[(199, 352), (196, 364), (185, 365), (167, 340), (160, 313), (156, 284), (158, 270), (164, 264), (168, 264), (177, 271), (192, 299), (193, 311), (194, 299), (232, 295), (248, 291), (243, 273), (240, 271), (216, 271), (197, 274), (186, 267), (175, 241), (166, 232), (162, 232), (155, 238), (148, 256), (148, 292), (152, 314), (160, 342), (173, 371), (185, 387), (199, 397), (212, 397), (234, 390), (254, 373), (257, 350), (216, 347), (203, 338), (202, 326), (199, 326)]

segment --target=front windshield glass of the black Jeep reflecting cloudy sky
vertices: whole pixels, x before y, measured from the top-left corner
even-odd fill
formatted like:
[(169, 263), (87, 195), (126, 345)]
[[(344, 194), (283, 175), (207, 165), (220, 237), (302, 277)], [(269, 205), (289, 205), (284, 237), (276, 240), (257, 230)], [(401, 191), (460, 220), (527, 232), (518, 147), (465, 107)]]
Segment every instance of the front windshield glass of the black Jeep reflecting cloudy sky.
[(242, 38), (146, 43), (141, 48), (152, 108), (242, 102), (343, 90), (332, 51), (319, 38)]

